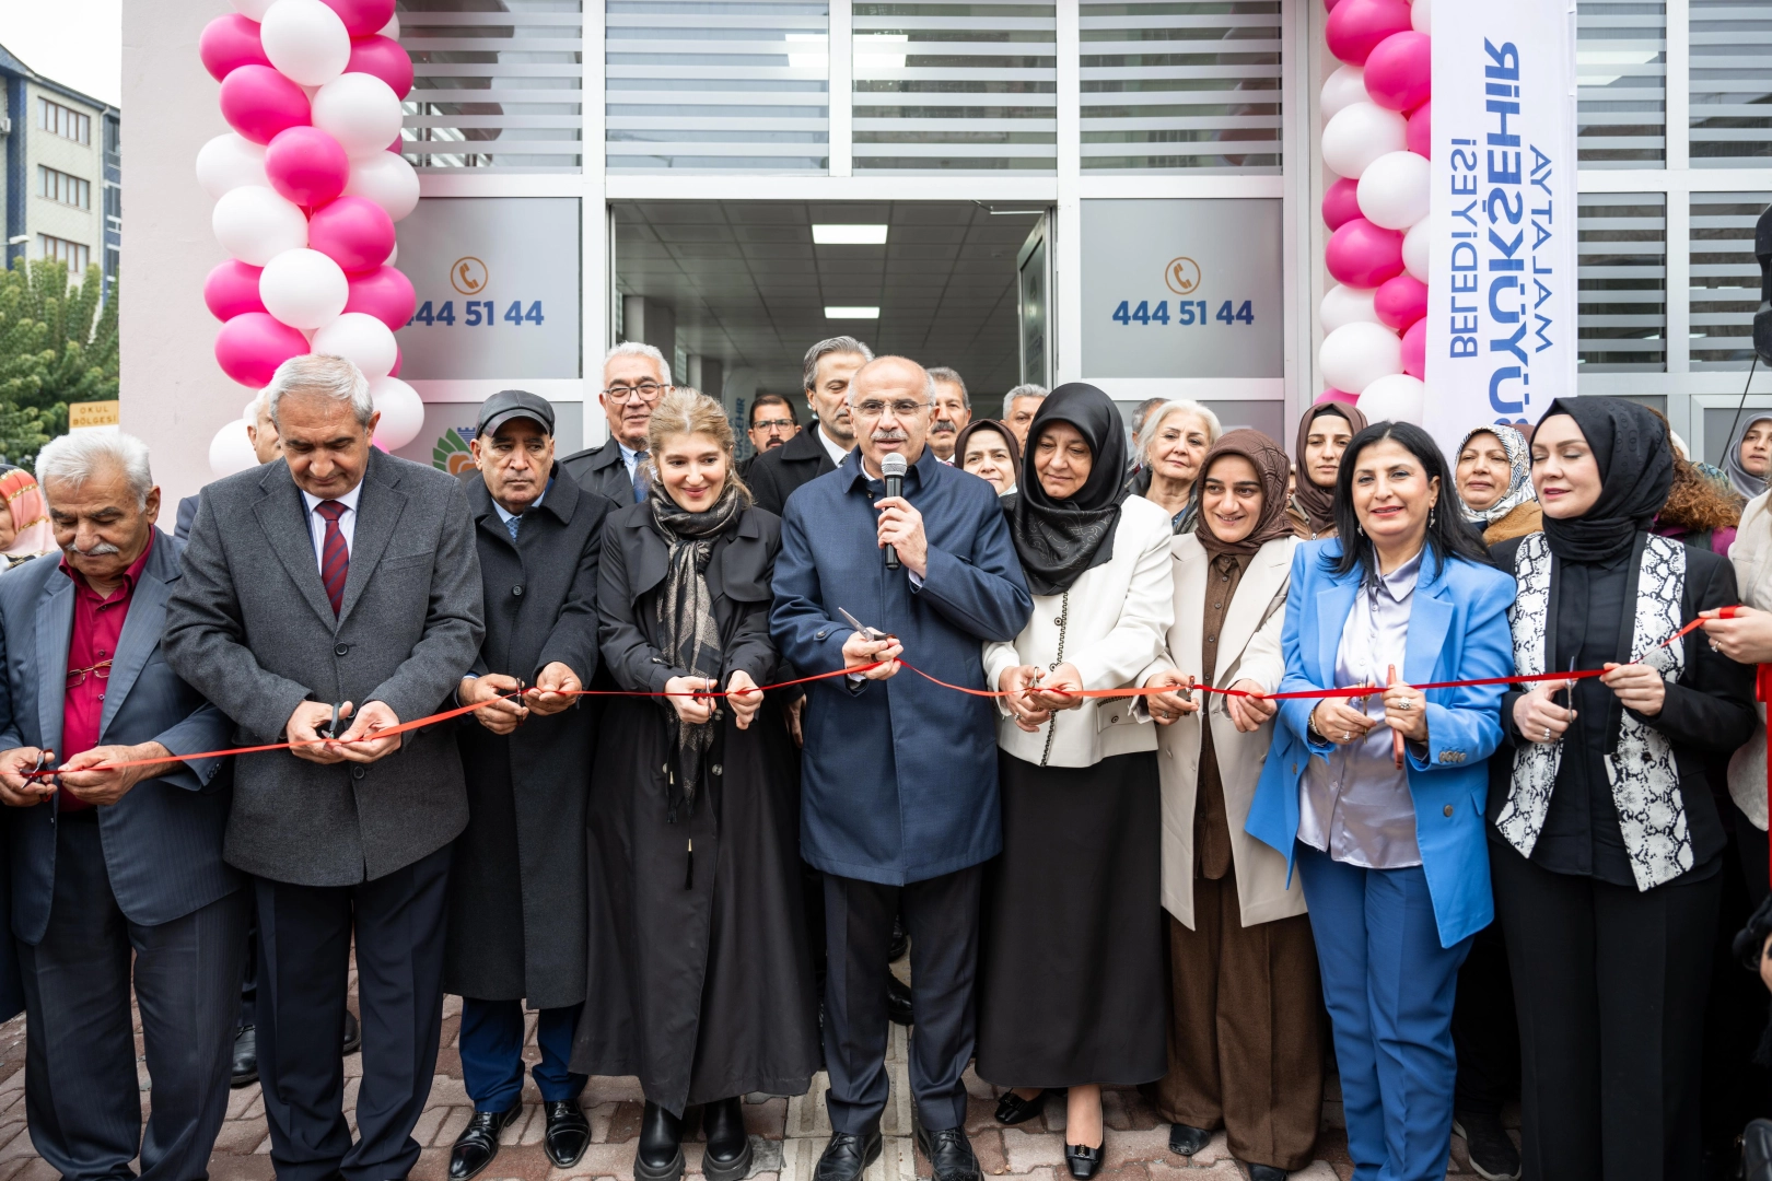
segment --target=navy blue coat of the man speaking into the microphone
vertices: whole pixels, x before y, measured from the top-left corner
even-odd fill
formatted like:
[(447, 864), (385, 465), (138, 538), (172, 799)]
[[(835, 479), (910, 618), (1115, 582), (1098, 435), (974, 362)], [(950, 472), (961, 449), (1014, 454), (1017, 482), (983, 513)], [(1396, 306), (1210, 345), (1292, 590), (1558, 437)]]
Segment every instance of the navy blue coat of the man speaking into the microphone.
[[(985, 687), (983, 643), (1026, 627), (1033, 598), (996, 490), (929, 450), (904, 494), (923, 513), (929, 577), (888, 570), (877, 547), (879, 482), (851, 452), (787, 499), (769, 630), (801, 675), (843, 668), (861, 623), (895, 634), (904, 659), (953, 685)], [(884, 682), (808, 685), (801, 855), (815, 869), (902, 885), (976, 866), (1003, 848), (996, 706), (909, 669)]]

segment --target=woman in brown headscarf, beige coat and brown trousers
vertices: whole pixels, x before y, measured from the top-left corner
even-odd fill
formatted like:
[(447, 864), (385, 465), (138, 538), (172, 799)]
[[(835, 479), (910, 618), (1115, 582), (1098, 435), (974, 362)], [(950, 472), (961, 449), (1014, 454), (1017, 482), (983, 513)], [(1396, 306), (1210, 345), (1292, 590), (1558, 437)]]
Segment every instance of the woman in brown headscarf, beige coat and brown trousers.
[[(1170, 666), (1145, 685), (1274, 692), (1285, 675), (1292, 551), (1286, 455), (1232, 430), (1201, 466), (1200, 524), (1175, 538)], [(1185, 669), (1185, 671), (1182, 671)], [(1189, 701), (1189, 696), (1194, 699)], [(1164, 726), (1162, 907), (1168, 910), (1170, 1068), (1157, 1084), (1170, 1151), (1193, 1156), (1223, 1126), (1253, 1181), (1311, 1162), (1322, 1110), (1317, 949), (1286, 859), (1244, 832), (1272, 738), (1255, 698), (1152, 698)]]

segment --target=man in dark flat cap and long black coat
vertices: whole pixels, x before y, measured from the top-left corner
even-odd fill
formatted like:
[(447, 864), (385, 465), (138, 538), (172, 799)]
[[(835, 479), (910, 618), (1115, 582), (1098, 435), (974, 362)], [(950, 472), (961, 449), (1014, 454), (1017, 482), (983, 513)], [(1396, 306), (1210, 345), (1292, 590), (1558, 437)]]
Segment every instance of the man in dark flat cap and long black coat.
[[(468, 827), (450, 873), (445, 988), (461, 993), (461, 1071), (473, 1117), (450, 1181), (498, 1154), (523, 1110), (523, 1007), (539, 1009), (548, 1158), (571, 1169), (590, 1144), (567, 1071), (585, 1007), (585, 799), (595, 726), (574, 691), (597, 669), (597, 554), (611, 501), (555, 462), (555, 413), (526, 390), (480, 407), (466, 482), (486, 590), (486, 643), (457, 687)], [(512, 698), (510, 694), (521, 694)]]

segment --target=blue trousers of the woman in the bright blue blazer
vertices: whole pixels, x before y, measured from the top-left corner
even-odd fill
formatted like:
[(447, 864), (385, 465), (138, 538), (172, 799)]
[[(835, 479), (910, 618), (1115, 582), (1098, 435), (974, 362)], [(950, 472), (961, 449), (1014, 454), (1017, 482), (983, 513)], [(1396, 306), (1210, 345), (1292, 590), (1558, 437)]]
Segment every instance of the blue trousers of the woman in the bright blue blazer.
[(1442, 1177), (1458, 1078), (1451, 1006), (1471, 940), (1441, 947), (1421, 866), (1361, 869), (1302, 843), (1297, 866), (1341, 1068), (1354, 1181)]

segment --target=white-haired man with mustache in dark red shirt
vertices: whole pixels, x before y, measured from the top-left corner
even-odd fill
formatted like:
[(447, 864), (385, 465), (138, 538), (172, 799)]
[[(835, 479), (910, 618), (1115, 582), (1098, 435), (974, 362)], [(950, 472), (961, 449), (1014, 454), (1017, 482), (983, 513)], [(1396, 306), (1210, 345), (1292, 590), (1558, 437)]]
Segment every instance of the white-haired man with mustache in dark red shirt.
[[(25, 1114), (64, 1177), (202, 1177), (227, 1115), (246, 903), (222, 859), (229, 721), (159, 659), (179, 545), (147, 446), (73, 434), (37, 455), (60, 552), (0, 579), (0, 800), (25, 976)], [(27, 779), (62, 756), (60, 788)], [(140, 760), (149, 765), (115, 767)], [(101, 770), (112, 767), (110, 770)], [(131, 963), (133, 960), (133, 963)], [(142, 1002), (152, 1117), (129, 1020)]]

